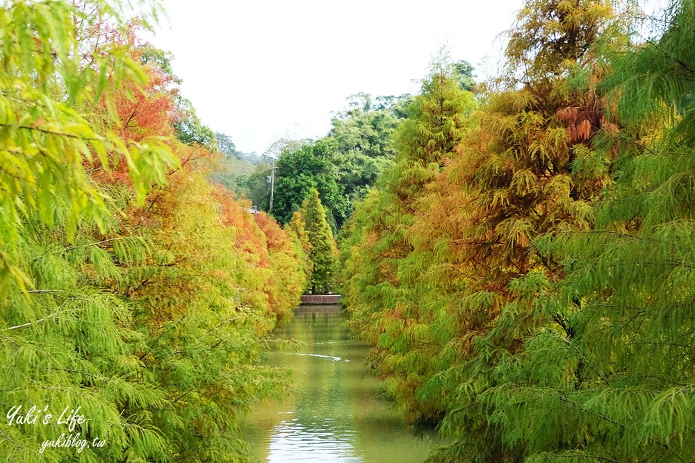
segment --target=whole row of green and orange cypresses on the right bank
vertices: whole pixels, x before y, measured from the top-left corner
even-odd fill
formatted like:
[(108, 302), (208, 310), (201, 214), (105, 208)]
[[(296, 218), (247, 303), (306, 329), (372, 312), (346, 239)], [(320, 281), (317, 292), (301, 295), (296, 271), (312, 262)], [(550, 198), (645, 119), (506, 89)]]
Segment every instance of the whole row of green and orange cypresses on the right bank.
[(695, 459), (695, 2), (639, 7), (527, 0), (475, 96), (434, 65), (343, 227), (350, 326), (431, 462)]

